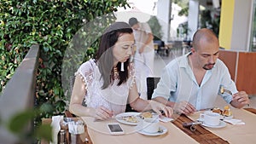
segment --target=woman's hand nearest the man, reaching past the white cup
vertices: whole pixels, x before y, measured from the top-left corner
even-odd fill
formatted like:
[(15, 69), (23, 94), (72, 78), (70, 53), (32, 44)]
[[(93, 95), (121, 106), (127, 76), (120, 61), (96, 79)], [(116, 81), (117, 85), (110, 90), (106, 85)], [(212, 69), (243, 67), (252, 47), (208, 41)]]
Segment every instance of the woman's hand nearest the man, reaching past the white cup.
[(159, 115), (162, 114), (160, 111), (163, 111), (166, 117), (172, 117), (172, 107), (167, 107), (164, 104), (157, 101), (149, 101), (149, 104), (151, 108), (154, 110), (154, 112), (158, 113)]

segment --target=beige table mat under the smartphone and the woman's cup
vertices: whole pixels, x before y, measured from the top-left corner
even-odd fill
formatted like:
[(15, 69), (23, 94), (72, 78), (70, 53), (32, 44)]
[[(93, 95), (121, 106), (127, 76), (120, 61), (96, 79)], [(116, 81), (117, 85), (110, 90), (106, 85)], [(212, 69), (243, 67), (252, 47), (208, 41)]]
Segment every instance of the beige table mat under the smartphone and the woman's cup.
[(179, 143), (179, 144), (197, 144), (198, 142), (191, 138), (189, 135), (183, 133), (182, 130), (179, 130), (174, 124), (167, 122), (160, 122), (160, 125), (165, 127), (167, 132), (163, 135), (150, 136), (143, 135), (138, 133), (138, 130), (141, 130), (140, 124), (128, 125), (120, 124), (125, 135), (110, 135), (107, 128), (107, 124), (118, 123), (116, 119), (111, 118), (106, 121), (94, 121), (94, 118), (86, 117), (83, 118), (84, 122), (87, 124), (88, 133), (94, 144), (112, 144), (112, 143), (140, 143), (140, 144), (170, 144), (170, 143)]

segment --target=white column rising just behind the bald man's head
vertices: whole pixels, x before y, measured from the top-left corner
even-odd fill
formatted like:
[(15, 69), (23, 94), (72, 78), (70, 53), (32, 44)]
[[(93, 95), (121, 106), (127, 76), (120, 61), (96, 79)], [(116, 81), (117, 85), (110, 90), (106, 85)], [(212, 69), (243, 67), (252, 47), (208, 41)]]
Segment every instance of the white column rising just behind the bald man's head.
[(188, 38), (192, 40), (195, 31), (198, 29), (199, 17), (199, 0), (189, 0), (189, 16), (188, 16)]

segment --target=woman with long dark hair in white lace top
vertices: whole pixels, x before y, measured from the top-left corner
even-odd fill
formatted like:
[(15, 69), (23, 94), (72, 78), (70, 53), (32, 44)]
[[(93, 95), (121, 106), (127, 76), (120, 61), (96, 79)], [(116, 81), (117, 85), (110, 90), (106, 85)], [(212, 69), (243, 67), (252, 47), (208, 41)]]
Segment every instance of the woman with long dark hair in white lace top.
[[(135, 70), (130, 63), (134, 36), (131, 26), (115, 22), (103, 33), (94, 59), (79, 67), (69, 111), (77, 116), (108, 119), (125, 112), (127, 102), (139, 112), (153, 109), (171, 117), (172, 108), (139, 98)], [(85, 99), (84, 99), (85, 98)], [(86, 106), (82, 106), (85, 100)]]

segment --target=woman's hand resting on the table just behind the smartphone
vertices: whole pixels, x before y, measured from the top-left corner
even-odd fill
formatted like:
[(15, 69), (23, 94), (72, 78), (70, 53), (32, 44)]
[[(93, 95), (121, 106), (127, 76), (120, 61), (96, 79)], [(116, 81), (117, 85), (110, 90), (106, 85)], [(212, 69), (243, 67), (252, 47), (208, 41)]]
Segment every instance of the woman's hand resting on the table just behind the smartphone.
[(106, 120), (108, 118), (112, 118), (113, 112), (108, 110), (106, 107), (97, 107), (94, 118), (100, 120)]

